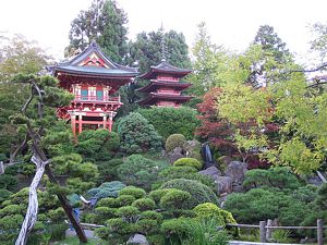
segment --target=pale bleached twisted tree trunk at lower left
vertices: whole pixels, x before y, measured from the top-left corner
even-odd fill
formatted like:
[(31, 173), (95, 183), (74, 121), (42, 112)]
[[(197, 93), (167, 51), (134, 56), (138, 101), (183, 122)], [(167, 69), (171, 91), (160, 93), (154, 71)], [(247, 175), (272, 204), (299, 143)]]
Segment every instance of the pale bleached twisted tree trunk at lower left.
[(32, 157), (32, 161), (36, 164), (36, 173), (29, 185), (27, 212), (25, 215), (25, 219), (21, 226), (21, 231), (15, 245), (25, 245), (27, 243), (28, 234), (34, 228), (34, 224), (37, 220), (37, 213), (38, 213), (37, 187), (43, 179), (43, 175), (45, 173), (45, 167), (48, 163), (48, 161), (43, 161), (35, 156)]

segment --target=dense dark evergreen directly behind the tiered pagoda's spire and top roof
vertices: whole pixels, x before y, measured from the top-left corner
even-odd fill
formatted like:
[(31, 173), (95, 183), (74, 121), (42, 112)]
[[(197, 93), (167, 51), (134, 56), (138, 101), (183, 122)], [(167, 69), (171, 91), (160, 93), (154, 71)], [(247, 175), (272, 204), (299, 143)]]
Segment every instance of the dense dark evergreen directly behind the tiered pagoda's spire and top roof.
[(131, 62), (137, 63), (141, 73), (148, 71), (152, 65), (160, 63), (162, 58), (175, 66), (191, 68), (189, 47), (182, 33), (175, 30), (164, 33), (162, 29), (150, 33), (143, 32), (137, 34), (136, 40), (130, 45)]

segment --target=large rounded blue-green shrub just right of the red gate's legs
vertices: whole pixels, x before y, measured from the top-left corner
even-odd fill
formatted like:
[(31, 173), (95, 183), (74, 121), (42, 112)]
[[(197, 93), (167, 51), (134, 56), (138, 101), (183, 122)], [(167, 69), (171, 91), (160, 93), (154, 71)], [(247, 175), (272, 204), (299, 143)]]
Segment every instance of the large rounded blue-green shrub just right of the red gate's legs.
[(161, 137), (155, 127), (137, 112), (131, 112), (118, 122), (121, 149), (128, 154), (159, 151)]

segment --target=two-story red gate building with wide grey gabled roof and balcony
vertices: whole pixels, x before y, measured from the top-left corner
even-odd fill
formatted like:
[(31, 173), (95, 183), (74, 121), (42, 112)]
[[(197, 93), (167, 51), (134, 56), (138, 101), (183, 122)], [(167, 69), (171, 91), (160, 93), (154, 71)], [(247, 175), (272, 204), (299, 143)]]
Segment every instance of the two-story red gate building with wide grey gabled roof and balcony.
[(113, 94), (137, 75), (136, 69), (112, 62), (96, 42), (51, 69), (60, 86), (75, 95), (70, 106), (58, 109), (61, 119), (71, 121), (74, 136), (83, 130), (111, 131), (116, 111), (122, 106), (120, 96)]

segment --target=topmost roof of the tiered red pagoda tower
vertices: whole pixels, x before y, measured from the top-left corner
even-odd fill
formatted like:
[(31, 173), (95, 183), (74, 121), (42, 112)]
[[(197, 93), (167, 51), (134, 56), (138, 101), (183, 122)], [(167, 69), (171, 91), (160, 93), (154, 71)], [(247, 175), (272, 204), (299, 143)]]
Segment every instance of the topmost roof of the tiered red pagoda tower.
[(177, 68), (177, 66), (168, 63), (166, 60), (162, 60), (161, 63), (159, 63), (158, 65), (150, 66), (150, 71), (140, 75), (138, 78), (153, 79), (153, 78), (156, 78), (157, 74), (171, 74), (171, 75), (182, 77), (182, 76), (187, 75), (191, 72), (192, 72), (192, 70), (180, 69), (180, 68)]

